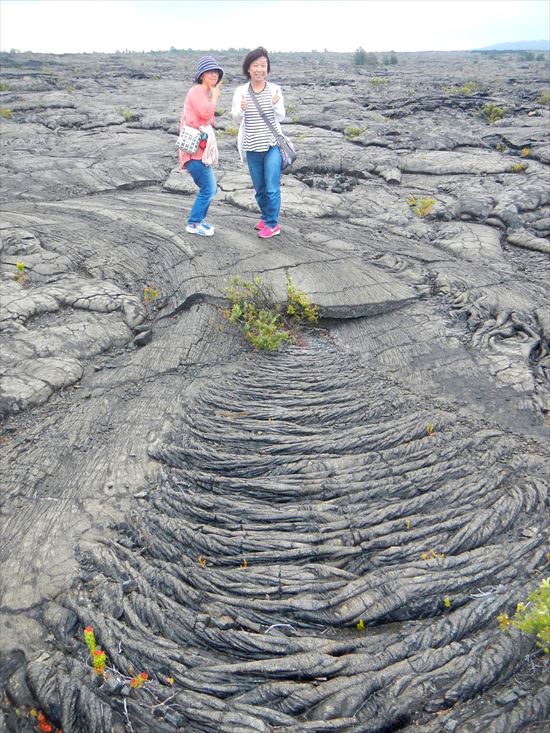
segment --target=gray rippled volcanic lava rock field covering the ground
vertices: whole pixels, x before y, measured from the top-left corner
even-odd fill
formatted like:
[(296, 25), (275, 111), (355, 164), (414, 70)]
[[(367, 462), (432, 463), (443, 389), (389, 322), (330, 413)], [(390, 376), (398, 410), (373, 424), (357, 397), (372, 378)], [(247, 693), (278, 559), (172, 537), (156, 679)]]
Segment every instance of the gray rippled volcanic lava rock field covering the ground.
[[(544, 64), (274, 54), (298, 159), (261, 240), (236, 52), (185, 231), (199, 55), (0, 57), (0, 727), (542, 733), (497, 617), (548, 575)], [(235, 275), (319, 323), (252, 350)]]

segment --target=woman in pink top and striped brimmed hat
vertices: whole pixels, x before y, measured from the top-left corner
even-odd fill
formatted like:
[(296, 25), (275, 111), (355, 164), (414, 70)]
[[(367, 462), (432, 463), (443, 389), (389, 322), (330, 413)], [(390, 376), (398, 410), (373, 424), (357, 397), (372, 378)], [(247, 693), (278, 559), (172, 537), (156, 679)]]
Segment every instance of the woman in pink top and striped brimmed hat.
[[(183, 129), (184, 125), (199, 128), (214, 124), (214, 111), (220, 98), (222, 77), (223, 69), (212, 56), (203, 56), (199, 60), (195, 73), (195, 84), (185, 97), (180, 129)], [(204, 148), (200, 146), (193, 154), (185, 153), (183, 150), (179, 151), (181, 167), (191, 174), (199, 187), (199, 193), (189, 214), (185, 231), (190, 234), (211, 237), (214, 234), (214, 227), (205, 222), (205, 217), (218, 190), (218, 184), (212, 167), (202, 162), (203, 155)]]

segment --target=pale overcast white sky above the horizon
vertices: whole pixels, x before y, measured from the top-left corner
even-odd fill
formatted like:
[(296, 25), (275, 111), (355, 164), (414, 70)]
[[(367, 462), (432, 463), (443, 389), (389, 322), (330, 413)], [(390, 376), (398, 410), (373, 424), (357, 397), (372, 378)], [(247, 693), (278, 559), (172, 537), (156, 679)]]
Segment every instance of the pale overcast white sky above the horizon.
[(549, 37), (548, 0), (0, 0), (0, 48), (428, 51)]

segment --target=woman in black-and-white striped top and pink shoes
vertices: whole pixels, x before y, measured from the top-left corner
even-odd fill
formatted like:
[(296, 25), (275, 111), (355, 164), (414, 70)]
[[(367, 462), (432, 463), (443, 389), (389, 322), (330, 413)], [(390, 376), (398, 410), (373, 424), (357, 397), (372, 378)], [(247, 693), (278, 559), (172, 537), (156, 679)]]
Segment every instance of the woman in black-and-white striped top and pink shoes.
[(281, 208), (281, 152), (252, 96), (280, 132), (279, 123), (285, 116), (285, 106), (281, 88), (267, 81), (270, 70), (269, 55), (265, 48), (260, 46), (250, 51), (243, 61), (243, 74), (250, 81), (236, 89), (231, 108), (233, 119), (240, 123), (237, 147), (241, 160), (246, 159), (248, 163), (256, 192), (261, 219), (255, 229), (262, 239), (281, 233), (278, 223)]

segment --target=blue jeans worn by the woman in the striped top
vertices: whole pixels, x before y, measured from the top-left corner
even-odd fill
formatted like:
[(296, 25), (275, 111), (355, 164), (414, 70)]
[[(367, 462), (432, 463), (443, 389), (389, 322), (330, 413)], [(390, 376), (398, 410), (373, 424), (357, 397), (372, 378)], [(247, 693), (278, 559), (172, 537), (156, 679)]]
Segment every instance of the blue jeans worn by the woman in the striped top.
[(276, 145), (262, 153), (247, 150), (246, 160), (262, 219), (273, 229), (281, 209), (281, 151)]

